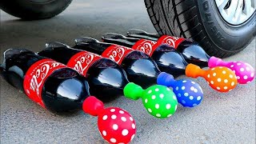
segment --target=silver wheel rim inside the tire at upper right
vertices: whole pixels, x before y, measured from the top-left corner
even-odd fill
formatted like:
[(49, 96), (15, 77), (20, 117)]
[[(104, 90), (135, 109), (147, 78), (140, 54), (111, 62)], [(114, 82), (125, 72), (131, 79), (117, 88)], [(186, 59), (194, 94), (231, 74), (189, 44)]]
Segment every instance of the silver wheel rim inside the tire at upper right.
[(246, 22), (255, 11), (256, 0), (215, 0), (222, 18), (232, 24)]

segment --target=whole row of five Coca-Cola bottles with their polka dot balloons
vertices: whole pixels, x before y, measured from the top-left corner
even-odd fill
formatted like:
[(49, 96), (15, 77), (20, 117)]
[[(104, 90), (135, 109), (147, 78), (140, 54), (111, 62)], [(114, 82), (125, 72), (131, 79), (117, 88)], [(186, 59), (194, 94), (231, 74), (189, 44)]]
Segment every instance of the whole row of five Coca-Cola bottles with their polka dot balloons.
[[(194, 107), (203, 98), (198, 83), (176, 81), (175, 76), (201, 76), (220, 92), (254, 80), (254, 69), (249, 64), (210, 58), (189, 39), (160, 37), (142, 30), (129, 30), (128, 36), (132, 38), (104, 34), (104, 42), (77, 38), (72, 48), (50, 42), (38, 54), (26, 49), (6, 50), (1, 74), (50, 111), (61, 113), (82, 107), (86, 113), (98, 115), (98, 129), (110, 143), (128, 143), (134, 138), (134, 118), (119, 108), (104, 109), (98, 99), (107, 102), (121, 95), (133, 100), (142, 98), (151, 115), (168, 118), (178, 103)], [(202, 70), (199, 66), (211, 69)], [(156, 82), (158, 85), (154, 85)]]

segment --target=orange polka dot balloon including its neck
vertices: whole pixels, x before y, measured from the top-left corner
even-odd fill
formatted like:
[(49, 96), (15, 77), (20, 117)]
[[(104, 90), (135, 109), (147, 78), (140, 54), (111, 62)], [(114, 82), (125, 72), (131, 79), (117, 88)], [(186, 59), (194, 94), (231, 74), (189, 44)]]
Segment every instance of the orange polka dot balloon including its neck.
[(217, 66), (209, 70), (202, 70), (199, 66), (189, 64), (185, 70), (186, 76), (191, 78), (203, 77), (210, 87), (219, 92), (228, 92), (237, 86), (238, 81), (232, 70)]

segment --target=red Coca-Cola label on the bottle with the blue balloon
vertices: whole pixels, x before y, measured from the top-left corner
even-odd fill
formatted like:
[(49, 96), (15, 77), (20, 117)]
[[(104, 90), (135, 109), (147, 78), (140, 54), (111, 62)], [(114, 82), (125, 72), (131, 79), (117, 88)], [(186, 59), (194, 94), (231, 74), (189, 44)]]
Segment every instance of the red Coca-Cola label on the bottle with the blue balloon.
[(132, 49), (126, 46), (112, 45), (104, 50), (102, 57), (110, 58), (114, 62), (117, 62), (119, 65), (121, 65), (122, 60), (126, 58), (126, 55), (130, 54), (132, 51)]

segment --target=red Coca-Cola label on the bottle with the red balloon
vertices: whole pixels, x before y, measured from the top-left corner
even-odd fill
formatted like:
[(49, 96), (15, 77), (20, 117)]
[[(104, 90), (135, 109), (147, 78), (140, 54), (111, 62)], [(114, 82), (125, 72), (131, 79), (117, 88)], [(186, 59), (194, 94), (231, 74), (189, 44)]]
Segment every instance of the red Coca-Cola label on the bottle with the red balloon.
[(55, 62), (51, 59), (42, 59), (35, 62), (27, 70), (24, 77), (23, 88), (26, 95), (40, 106), (45, 107), (42, 102), (42, 86), (46, 82), (46, 78), (53, 74), (55, 70), (65, 67), (62, 63)]

